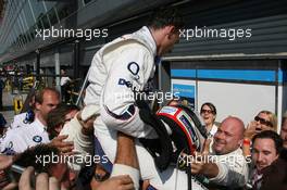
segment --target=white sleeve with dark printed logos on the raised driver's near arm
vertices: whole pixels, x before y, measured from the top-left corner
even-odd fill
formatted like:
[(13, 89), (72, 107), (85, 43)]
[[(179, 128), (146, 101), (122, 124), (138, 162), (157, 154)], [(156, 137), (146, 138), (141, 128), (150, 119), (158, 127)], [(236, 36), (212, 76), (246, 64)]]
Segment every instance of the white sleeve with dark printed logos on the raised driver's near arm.
[(133, 137), (155, 138), (155, 131), (139, 117), (133, 90), (144, 90), (153, 75), (153, 58), (139, 45), (126, 48), (113, 59), (102, 94), (103, 123)]

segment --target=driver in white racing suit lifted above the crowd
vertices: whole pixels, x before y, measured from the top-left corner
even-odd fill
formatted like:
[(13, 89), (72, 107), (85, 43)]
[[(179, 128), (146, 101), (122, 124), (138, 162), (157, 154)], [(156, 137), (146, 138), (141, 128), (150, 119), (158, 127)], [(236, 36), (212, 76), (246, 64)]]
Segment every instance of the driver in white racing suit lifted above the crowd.
[[(135, 138), (157, 138), (155, 131), (140, 119), (139, 110), (134, 104), (134, 92), (149, 89), (148, 81), (154, 75), (159, 56), (179, 40), (182, 27), (183, 20), (175, 10), (159, 10), (148, 26), (113, 40), (93, 56), (85, 104), (100, 106), (100, 116), (93, 124), (95, 135), (112, 163), (116, 155), (117, 131)], [(157, 189), (174, 189), (175, 180), (171, 181), (171, 178), (176, 177), (176, 169), (159, 173), (153, 157), (144, 147), (135, 143), (141, 178)], [(127, 149), (127, 144), (120, 144), (120, 149), (121, 145)], [(129, 157), (128, 152), (126, 157)], [(127, 169), (137, 175), (135, 167)], [(138, 183), (133, 178), (135, 176), (130, 176), (133, 182)], [(178, 172), (177, 176), (180, 178), (178, 189), (187, 189), (186, 174)]]

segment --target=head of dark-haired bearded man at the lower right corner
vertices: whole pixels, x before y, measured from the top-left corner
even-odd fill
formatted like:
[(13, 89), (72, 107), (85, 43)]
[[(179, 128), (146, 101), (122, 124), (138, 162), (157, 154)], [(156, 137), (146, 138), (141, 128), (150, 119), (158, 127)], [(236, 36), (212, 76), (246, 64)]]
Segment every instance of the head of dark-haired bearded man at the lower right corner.
[(252, 148), (252, 161), (257, 169), (262, 170), (278, 159), (283, 140), (275, 131), (264, 130), (253, 137)]

